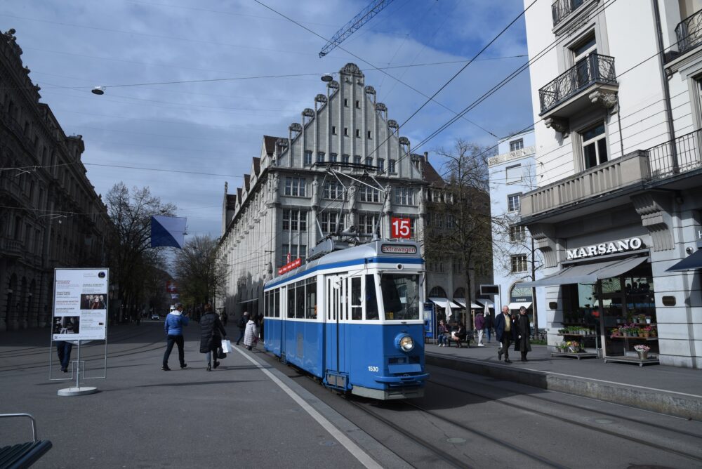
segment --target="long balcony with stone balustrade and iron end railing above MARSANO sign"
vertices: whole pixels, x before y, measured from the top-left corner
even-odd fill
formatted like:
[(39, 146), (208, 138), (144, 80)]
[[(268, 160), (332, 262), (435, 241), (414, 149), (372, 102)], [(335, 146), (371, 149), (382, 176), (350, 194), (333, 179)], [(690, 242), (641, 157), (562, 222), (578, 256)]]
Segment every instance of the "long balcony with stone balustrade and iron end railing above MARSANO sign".
[[(539, 187), (522, 196), (522, 218), (596, 199), (630, 187), (642, 190), (672, 183), (675, 178), (702, 169), (702, 130), (687, 133), (648, 150), (640, 150), (605, 164)], [(687, 176), (692, 176), (687, 174)], [(684, 187), (702, 185), (685, 178)]]

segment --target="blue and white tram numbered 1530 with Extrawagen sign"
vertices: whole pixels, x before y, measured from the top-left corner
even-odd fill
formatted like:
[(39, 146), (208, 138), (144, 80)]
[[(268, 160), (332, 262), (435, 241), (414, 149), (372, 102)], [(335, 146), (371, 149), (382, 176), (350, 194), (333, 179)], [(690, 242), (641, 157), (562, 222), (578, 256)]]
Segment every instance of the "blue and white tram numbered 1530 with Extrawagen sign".
[(373, 241), (267, 282), (266, 350), (329, 388), (373, 399), (423, 396), (419, 251), (413, 242)]

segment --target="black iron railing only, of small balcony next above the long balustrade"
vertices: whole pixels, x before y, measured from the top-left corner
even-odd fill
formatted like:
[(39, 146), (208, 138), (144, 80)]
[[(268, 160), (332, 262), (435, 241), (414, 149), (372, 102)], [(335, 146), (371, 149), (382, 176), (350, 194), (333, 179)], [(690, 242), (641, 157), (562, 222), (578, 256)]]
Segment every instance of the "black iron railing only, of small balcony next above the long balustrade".
[(541, 114), (595, 83), (616, 84), (614, 57), (591, 53), (538, 91)]

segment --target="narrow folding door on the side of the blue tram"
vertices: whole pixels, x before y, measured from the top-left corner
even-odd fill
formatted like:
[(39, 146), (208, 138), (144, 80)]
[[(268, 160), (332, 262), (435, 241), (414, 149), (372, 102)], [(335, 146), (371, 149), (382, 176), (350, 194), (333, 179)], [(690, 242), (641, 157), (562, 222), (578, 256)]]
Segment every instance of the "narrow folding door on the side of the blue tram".
[(345, 275), (326, 277), (326, 324), (327, 341), (326, 365), (330, 371), (345, 373), (346, 369), (346, 330), (348, 310), (346, 305), (347, 282)]

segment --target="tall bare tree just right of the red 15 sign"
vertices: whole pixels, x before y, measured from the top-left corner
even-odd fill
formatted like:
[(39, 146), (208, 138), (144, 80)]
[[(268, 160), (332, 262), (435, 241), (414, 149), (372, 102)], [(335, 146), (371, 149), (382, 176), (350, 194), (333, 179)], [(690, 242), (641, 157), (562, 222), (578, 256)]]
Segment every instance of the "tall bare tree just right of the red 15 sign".
[[(491, 152), (458, 139), (453, 148), (437, 153), (446, 161), (444, 186), (428, 202), (425, 255), (429, 260), (459, 261), (465, 275), (465, 307), (470, 312), (476, 274), (492, 275), (487, 169)], [(466, 326), (472, 329), (472, 320)]]

